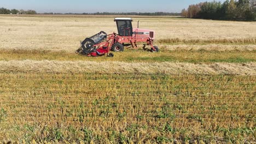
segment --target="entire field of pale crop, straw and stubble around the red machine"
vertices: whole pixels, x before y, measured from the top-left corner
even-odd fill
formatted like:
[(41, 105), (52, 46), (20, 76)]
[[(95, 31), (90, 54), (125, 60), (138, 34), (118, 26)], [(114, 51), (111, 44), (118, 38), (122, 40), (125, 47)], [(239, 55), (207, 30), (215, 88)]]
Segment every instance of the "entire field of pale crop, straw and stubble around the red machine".
[(114, 17), (0, 16), (1, 142), (256, 142), (255, 22), (135, 17), (159, 53), (75, 53)]

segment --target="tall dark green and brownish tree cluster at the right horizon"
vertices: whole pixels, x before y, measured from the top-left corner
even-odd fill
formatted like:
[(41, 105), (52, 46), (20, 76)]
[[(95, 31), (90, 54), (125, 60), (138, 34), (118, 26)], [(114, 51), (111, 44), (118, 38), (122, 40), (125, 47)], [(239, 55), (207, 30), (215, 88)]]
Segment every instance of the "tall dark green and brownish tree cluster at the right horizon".
[(189, 5), (182, 10), (182, 16), (213, 20), (255, 20), (255, 0), (226, 0), (224, 3), (213, 1)]

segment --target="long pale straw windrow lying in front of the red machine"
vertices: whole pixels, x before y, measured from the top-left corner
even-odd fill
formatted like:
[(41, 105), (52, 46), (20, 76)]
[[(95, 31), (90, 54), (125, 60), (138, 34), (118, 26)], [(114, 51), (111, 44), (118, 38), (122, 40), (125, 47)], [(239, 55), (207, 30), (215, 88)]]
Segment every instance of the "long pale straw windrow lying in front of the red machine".
[(0, 61), (4, 73), (256, 75), (256, 63), (125, 63), (90, 61)]

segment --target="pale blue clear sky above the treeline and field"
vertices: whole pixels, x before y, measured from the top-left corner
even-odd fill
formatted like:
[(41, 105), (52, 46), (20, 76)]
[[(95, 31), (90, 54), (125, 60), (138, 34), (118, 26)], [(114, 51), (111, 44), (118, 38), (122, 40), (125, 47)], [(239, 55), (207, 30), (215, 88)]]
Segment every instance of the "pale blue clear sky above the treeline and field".
[(38, 13), (181, 12), (190, 4), (204, 1), (207, 0), (0, 0), (0, 7), (33, 9)]

